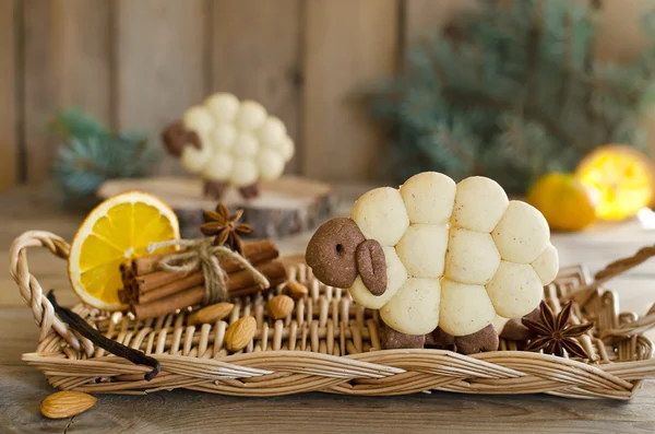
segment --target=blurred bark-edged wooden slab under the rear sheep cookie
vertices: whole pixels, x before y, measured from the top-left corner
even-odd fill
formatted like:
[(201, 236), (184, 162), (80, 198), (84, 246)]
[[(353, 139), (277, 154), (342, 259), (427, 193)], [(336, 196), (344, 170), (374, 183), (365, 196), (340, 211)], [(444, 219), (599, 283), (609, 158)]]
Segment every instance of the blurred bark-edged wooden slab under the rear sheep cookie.
[[(112, 179), (97, 191), (100, 199), (123, 191), (140, 190), (157, 196), (178, 215), (184, 238), (201, 236), (203, 210), (216, 208), (216, 201), (203, 196), (203, 183), (196, 178), (153, 177), (141, 179)], [(299, 176), (283, 176), (262, 183), (260, 196), (245, 200), (229, 189), (223, 198), (230, 212), (243, 209), (243, 223), (250, 224), (254, 237), (282, 237), (309, 231), (329, 218), (336, 208), (332, 186)]]

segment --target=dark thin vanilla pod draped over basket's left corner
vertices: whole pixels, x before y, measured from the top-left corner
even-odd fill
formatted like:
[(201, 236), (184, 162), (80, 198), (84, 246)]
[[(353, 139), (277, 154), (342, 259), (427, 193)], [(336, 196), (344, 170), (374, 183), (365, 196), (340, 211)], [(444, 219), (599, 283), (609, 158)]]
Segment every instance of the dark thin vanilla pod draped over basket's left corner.
[(57, 298), (55, 298), (55, 292), (52, 290), (48, 292), (48, 300), (52, 304), (55, 313), (63, 322), (68, 324), (73, 330), (78, 331), (94, 344), (110, 352), (111, 354), (127, 359), (136, 365), (152, 366), (153, 371), (148, 372), (144, 376), (147, 382), (159, 374), (162, 366), (159, 366), (159, 362), (157, 362), (156, 359), (145, 355), (142, 351), (131, 349), (122, 343), (118, 343), (115, 340), (105, 337), (103, 333), (91, 327), (88, 322), (86, 322), (80, 315), (75, 314), (68, 307), (60, 306), (57, 303)]

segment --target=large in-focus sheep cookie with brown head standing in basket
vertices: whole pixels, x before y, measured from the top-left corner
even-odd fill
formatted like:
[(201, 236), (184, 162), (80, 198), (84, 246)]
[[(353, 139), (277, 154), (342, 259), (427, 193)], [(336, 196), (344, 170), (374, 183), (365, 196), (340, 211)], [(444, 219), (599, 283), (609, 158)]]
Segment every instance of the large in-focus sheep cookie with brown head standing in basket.
[(468, 353), (495, 350), (496, 327), (539, 305), (559, 269), (549, 238), (544, 215), (496, 181), (426, 172), (361, 196), (348, 219), (317, 230), (306, 259), (320, 281), (380, 310), (393, 330), (384, 347), (403, 348), (403, 335), (422, 347), (416, 337), (439, 327)]

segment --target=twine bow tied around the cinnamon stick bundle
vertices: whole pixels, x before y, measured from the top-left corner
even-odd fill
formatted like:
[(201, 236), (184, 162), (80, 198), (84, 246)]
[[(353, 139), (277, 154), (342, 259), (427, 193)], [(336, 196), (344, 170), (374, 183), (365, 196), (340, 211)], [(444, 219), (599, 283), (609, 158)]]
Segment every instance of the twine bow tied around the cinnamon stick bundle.
[(189, 274), (201, 270), (204, 279), (205, 304), (214, 304), (229, 298), (227, 291), (227, 273), (221, 268), (219, 259), (233, 260), (249, 271), (254, 282), (260, 288), (270, 286), (269, 279), (258, 271), (246, 258), (225, 246), (213, 244), (214, 238), (200, 239), (171, 239), (168, 242), (153, 243), (147, 246), (148, 253), (164, 247), (179, 246), (184, 249), (166, 256), (157, 262), (164, 271)]

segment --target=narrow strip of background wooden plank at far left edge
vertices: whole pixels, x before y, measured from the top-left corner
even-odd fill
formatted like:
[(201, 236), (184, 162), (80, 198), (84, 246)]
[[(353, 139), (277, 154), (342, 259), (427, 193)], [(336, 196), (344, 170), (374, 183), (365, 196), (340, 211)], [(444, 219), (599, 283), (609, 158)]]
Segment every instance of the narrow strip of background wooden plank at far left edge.
[(20, 118), (16, 89), (17, 43), (15, 34), (17, 2), (0, 0), (0, 190), (19, 181), (19, 137), (16, 122)]

